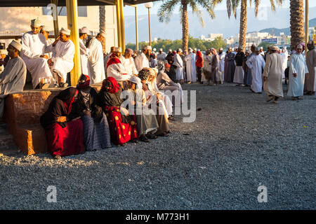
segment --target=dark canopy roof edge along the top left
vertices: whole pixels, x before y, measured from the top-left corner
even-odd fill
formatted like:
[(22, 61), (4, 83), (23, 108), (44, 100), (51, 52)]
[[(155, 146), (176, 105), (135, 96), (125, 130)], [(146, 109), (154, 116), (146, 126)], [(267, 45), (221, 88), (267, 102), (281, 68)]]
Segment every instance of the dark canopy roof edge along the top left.
[[(78, 6), (107, 6), (115, 4), (115, 0), (77, 0)], [(125, 0), (124, 3), (137, 5), (158, 0)], [(34, 7), (47, 6), (51, 0), (0, 0), (0, 7)], [(65, 0), (58, 0), (58, 6), (66, 6)]]

